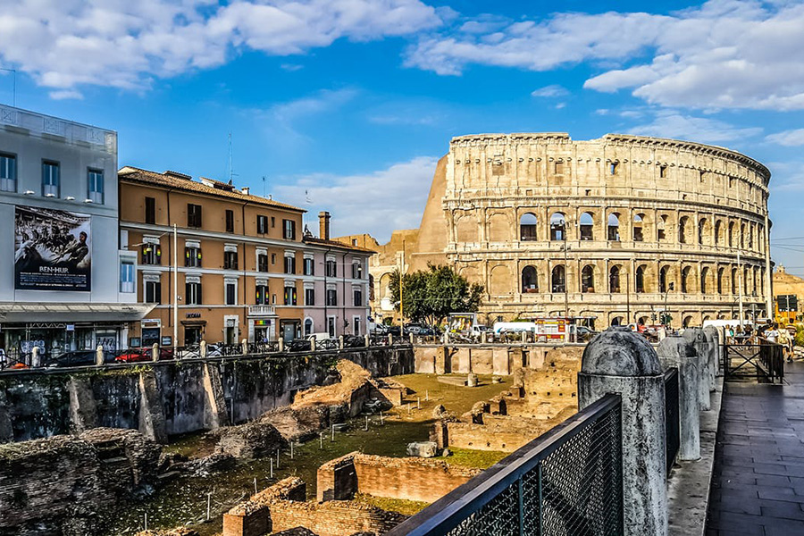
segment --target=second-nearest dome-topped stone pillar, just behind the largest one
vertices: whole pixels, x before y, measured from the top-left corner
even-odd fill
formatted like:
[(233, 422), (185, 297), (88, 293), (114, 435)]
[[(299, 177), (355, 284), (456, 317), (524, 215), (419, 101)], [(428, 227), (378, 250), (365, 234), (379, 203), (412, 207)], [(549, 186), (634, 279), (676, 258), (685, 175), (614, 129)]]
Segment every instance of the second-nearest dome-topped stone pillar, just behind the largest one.
[(659, 343), (657, 354), (663, 367), (678, 368), (678, 421), (681, 440), (678, 457), (682, 460), (697, 460), (700, 458), (700, 377), (695, 349), (683, 337), (671, 335)]

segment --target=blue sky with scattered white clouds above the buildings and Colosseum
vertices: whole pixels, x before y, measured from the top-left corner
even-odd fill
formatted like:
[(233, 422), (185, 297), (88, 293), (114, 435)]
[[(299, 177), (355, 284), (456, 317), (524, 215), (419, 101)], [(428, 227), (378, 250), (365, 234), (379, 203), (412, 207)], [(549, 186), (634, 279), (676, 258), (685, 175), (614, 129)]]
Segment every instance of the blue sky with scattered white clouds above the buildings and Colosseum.
[(238, 186), (381, 241), (456, 135), (729, 147), (773, 172), (775, 261), (804, 274), (802, 29), (785, 0), (23, 0), (0, 67), (17, 105), (118, 130), (121, 165), (228, 180), (231, 132)]

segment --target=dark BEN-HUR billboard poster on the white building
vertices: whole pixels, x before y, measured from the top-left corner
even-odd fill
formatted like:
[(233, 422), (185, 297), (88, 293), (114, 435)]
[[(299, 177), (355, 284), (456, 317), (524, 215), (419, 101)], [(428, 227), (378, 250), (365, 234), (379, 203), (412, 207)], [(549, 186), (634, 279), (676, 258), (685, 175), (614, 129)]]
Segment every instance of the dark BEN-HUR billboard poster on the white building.
[(88, 214), (17, 205), (14, 235), (14, 289), (91, 289)]

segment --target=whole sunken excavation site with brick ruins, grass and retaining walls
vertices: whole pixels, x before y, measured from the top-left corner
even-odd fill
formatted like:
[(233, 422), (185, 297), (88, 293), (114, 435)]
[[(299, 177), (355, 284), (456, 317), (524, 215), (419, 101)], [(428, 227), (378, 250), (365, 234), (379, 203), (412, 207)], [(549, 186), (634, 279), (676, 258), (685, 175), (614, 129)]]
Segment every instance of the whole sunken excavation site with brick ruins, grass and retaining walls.
[(381, 534), (577, 410), (581, 347), (353, 354), (3, 380), (0, 532)]

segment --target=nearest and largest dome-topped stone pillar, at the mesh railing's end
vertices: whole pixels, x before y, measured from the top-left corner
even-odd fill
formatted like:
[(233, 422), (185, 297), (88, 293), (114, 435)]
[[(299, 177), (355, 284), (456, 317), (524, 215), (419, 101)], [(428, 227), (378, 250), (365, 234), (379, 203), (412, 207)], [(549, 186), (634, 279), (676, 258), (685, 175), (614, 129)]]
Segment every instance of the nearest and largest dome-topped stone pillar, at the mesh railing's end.
[(665, 379), (656, 351), (627, 328), (603, 331), (583, 351), (579, 409), (608, 393), (623, 399), (624, 534), (666, 536)]

